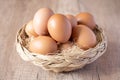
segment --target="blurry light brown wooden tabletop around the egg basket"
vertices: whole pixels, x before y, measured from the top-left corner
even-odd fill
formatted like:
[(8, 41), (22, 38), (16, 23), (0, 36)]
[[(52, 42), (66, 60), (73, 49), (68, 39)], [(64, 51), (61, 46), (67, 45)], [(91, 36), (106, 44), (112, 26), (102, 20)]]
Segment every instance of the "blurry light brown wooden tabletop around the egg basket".
[[(42, 7), (58, 13), (88, 11), (108, 38), (106, 53), (69, 73), (44, 71), (23, 61), (15, 49), (17, 30)], [(0, 80), (120, 80), (120, 0), (0, 0)]]

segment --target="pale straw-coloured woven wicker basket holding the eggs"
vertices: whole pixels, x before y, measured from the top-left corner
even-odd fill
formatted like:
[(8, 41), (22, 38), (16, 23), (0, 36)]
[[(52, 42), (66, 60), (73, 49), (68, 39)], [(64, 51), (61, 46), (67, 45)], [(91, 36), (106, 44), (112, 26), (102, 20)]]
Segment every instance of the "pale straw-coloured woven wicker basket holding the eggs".
[(80, 69), (89, 64), (105, 53), (107, 48), (107, 39), (104, 31), (100, 27), (96, 27), (94, 33), (97, 37), (97, 45), (88, 50), (82, 50), (75, 44), (68, 49), (55, 53), (54, 55), (41, 55), (32, 53), (28, 49), (30, 38), (25, 33), (24, 25), (17, 33), (16, 49), (21, 58), (25, 61), (42, 67), (44, 70), (54, 72), (68, 72)]

